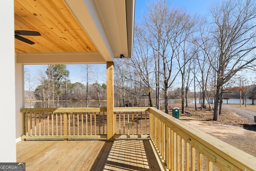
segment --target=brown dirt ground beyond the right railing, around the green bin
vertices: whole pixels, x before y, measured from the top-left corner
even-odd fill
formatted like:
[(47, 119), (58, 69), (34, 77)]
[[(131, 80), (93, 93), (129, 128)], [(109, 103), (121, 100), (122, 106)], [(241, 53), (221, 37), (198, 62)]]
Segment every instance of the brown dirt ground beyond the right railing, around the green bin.
[[(170, 104), (169, 107), (170, 114), (172, 114), (172, 107), (181, 109), (180, 104)], [(161, 110), (164, 110), (163, 107)], [(191, 114), (180, 114), (180, 120), (256, 157), (256, 124), (228, 109), (223, 109), (219, 121), (212, 121), (213, 111), (209, 111), (208, 108), (202, 111), (198, 108), (195, 111), (194, 105), (190, 105), (185, 108), (185, 111)]]

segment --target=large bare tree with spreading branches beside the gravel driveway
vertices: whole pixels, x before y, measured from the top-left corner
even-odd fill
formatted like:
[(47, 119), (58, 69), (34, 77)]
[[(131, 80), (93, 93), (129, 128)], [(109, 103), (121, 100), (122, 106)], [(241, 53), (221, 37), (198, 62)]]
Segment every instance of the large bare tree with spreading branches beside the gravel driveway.
[[(256, 48), (255, 1), (225, 0), (212, 8), (211, 15), (211, 36), (210, 39), (202, 40), (201, 47), (205, 50), (206, 41), (211, 40), (217, 52), (208, 58), (217, 73), (213, 120), (218, 121), (223, 85), (240, 70), (253, 67), (252, 62), (256, 60), (252, 52)], [(217, 59), (217, 66), (214, 65), (213, 58)]]

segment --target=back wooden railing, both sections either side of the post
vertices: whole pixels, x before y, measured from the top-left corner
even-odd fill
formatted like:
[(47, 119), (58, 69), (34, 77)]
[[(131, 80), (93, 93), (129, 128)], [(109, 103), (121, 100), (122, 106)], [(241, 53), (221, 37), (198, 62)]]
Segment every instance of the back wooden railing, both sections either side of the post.
[[(26, 108), (22, 139), (106, 138), (106, 108)], [(114, 108), (114, 138), (149, 137), (149, 108)]]

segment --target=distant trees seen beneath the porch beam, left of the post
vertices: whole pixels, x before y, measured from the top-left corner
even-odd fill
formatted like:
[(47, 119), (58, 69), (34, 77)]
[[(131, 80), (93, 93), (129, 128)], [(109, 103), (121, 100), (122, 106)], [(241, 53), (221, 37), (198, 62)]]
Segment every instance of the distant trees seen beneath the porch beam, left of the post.
[[(97, 100), (100, 107), (100, 101), (106, 99), (106, 84), (100, 84), (98, 78), (95, 79), (90, 74), (92, 73), (90, 65), (84, 66), (83, 74), (84, 72), (86, 85), (80, 82), (71, 83), (68, 79), (70, 72), (66, 65), (47, 65), (46, 68), (38, 70), (36, 76), (27, 69), (24, 71), (25, 89), (27, 90), (25, 99), (30, 103), (30, 107), (34, 99), (40, 100), (43, 108), (49, 108), (50, 104), (58, 107), (60, 100), (66, 101), (66, 105), (68, 100), (86, 100), (87, 107), (88, 100)], [(35, 82), (38, 84), (36, 87), (34, 87)]]

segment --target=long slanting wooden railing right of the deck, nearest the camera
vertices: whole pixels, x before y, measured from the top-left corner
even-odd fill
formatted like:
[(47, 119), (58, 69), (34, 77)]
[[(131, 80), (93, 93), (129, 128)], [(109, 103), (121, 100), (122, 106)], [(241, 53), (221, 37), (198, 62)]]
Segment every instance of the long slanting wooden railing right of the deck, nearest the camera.
[(256, 157), (150, 107), (150, 135), (168, 169), (255, 171)]

